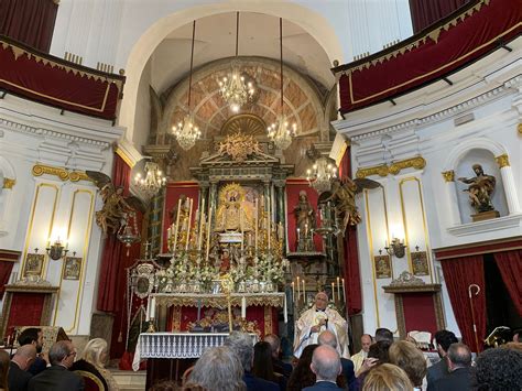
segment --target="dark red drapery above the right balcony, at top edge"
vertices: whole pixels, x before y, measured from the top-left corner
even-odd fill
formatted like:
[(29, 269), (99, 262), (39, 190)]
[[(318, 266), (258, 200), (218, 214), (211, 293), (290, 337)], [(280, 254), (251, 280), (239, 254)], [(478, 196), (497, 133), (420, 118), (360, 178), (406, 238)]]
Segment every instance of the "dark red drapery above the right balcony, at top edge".
[(436, 21), (446, 18), (468, 1), (469, 0), (410, 0), (413, 32), (415, 34), (418, 33)]

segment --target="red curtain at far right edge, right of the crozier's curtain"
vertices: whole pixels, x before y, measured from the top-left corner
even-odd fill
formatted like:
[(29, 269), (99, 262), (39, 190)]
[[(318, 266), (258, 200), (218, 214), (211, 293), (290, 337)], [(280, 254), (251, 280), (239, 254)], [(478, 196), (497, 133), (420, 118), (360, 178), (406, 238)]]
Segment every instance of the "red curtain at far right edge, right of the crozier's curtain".
[(514, 306), (522, 316), (522, 250), (496, 252), (494, 261)]

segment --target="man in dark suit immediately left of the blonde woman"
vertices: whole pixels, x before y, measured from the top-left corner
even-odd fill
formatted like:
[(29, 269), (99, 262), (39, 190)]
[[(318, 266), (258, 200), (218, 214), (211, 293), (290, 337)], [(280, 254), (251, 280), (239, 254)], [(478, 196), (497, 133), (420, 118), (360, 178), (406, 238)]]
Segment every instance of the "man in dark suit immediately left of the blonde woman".
[(76, 350), (70, 340), (58, 340), (48, 350), (51, 367), (29, 381), (29, 391), (83, 391), (84, 380), (68, 369)]

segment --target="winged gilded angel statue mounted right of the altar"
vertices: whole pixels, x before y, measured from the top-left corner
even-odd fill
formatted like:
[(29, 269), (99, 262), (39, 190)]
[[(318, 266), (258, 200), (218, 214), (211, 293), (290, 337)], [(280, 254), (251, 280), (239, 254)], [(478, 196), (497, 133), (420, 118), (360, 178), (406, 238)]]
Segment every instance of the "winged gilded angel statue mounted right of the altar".
[(342, 181), (334, 181), (331, 196), (326, 200), (330, 200), (335, 205), (336, 220), (342, 235), (345, 235), (348, 225), (356, 226), (361, 221), (361, 216), (356, 206), (356, 194), (361, 193), (363, 188), (377, 188), (380, 186), (379, 182), (367, 178), (356, 178), (352, 181), (347, 177)]

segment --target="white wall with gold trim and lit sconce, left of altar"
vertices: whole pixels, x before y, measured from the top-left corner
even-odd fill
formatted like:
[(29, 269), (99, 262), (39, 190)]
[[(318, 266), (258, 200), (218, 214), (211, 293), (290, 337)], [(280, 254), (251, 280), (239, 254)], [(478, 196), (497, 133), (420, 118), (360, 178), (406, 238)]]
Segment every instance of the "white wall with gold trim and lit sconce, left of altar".
[[(64, 260), (45, 257), (42, 278), (59, 286), (52, 324), (69, 335), (87, 335), (95, 309), (101, 235), (95, 211), (101, 204), (90, 181), (62, 180), (55, 174), (35, 175), (36, 164), (58, 172), (102, 171), (110, 174), (111, 144), (123, 133), (110, 121), (65, 112), (11, 95), (0, 100), (0, 170), (15, 180), (0, 193), (2, 235), (0, 248), (21, 251), (12, 279), (22, 278), (25, 257), (48, 240), (68, 239), (68, 256), (83, 259), (79, 280), (64, 280)], [(9, 170), (11, 169), (11, 171)]]

